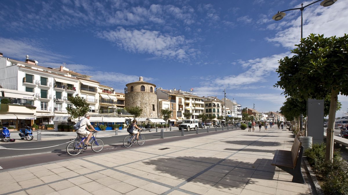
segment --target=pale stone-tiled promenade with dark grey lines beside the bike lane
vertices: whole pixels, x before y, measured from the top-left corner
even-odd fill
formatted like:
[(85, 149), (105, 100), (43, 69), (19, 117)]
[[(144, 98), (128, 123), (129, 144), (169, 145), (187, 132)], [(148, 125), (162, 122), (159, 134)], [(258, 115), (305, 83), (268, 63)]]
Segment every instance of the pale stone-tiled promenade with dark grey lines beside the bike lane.
[[(0, 193), (29, 195), (313, 194), (270, 163), (290, 131), (228, 131), (0, 171)], [(303, 168), (303, 167), (302, 167)]]

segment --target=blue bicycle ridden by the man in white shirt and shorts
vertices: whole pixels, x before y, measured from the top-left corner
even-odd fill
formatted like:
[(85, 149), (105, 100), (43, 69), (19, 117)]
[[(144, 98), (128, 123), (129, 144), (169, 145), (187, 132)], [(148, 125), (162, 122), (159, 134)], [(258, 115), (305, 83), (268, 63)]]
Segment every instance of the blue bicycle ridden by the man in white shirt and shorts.
[[(104, 142), (101, 139), (95, 139), (94, 134), (96, 134), (97, 131), (93, 131), (92, 133), (92, 137), (89, 140), (88, 143), (92, 142), (92, 150), (94, 152), (100, 152), (102, 151), (102, 149), (104, 148)], [(80, 154), (80, 152), (82, 151), (82, 149), (86, 150), (87, 149), (87, 145), (85, 145), (84, 140), (86, 139), (86, 137), (82, 137), (83, 135), (77, 134), (78, 137), (76, 139), (72, 139), (68, 146), (66, 146), (66, 152), (70, 155), (70, 156), (76, 156), (78, 154)]]

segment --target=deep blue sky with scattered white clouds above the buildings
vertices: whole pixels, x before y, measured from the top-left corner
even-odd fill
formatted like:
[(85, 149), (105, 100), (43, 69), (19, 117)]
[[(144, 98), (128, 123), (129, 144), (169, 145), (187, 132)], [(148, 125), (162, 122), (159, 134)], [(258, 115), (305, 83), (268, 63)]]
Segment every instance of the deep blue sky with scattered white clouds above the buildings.
[[(299, 0), (1, 0), (0, 52), (65, 67), (124, 93), (139, 80), (163, 89), (278, 111), (278, 60), (300, 43)], [(348, 33), (348, 0), (303, 10), (303, 37)], [(348, 98), (339, 96), (348, 111)]]

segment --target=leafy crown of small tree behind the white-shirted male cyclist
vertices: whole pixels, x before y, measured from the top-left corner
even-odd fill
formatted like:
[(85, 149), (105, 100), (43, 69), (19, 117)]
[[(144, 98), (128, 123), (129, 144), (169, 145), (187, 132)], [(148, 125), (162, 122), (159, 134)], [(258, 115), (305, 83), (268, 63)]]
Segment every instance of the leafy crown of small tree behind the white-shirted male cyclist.
[(68, 101), (74, 105), (73, 107), (66, 107), (71, 118), (80, 120), (89, 111), (89, 103), (87, 103), (85, 98), (80, 97), (79, 94), (68, 97)]

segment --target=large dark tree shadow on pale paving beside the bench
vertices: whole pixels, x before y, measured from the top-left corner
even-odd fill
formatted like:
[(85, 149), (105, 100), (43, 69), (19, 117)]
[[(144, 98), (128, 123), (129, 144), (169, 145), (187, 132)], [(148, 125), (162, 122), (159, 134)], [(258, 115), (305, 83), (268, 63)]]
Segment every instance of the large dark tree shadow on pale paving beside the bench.
[[(273, 180), (275, 166), (270, 159), (256, 159), (254, 163), (214, 157), (180, 156), (143, 161), (157, 172), (202, 186), (215, 186), (223, 191), (257, 184), (251, 178)], [(155, 166), (154, 166), (155, 165)], [(141, 169), (140, 169), (141, 170)], [(266, 177), (265, 177), (266, 176)]]

